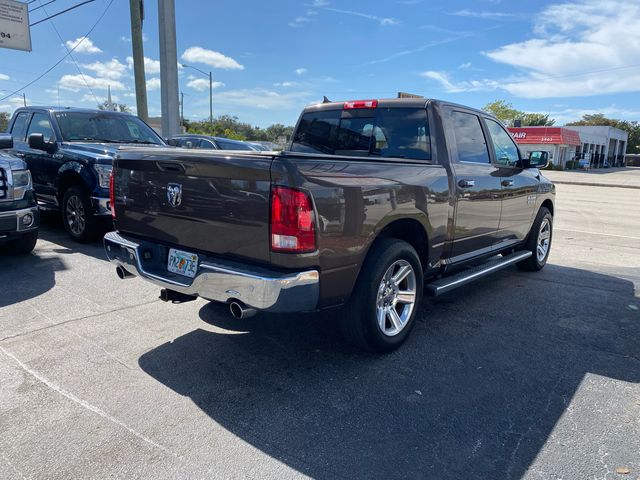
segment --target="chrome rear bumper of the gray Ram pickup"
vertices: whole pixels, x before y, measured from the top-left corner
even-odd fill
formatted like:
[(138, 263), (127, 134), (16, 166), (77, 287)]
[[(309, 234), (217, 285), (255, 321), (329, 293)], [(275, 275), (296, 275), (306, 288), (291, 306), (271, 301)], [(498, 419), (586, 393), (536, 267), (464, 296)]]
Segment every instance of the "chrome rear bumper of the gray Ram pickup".
[(192, 279), (167, 270), (168, 247), (164, 245), (109, 232), (104, 236), (104, 247), (111, 263), (159, 287), (187, 295), (225, 303), (237, 300), (271, 312), (309, 311), (318, 305), (317, 270), (281, 273), (200, 255)]

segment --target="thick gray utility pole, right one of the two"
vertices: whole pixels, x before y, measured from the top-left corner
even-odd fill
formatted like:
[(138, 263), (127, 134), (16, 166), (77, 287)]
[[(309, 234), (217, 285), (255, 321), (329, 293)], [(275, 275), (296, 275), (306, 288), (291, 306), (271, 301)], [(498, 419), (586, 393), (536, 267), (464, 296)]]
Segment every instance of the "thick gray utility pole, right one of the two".
[(179, 131), (178, 52), (176, 47), (175, 0), (158, 0), (160, 32), (160, 96), (162, 98), (162, 135), (170, 138)]

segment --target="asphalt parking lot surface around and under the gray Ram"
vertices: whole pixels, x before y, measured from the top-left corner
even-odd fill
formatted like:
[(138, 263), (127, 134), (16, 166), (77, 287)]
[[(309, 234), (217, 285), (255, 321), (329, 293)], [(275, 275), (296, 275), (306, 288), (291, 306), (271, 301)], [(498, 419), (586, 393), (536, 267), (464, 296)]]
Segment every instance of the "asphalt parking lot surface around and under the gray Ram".
[(45, 221), (0, 256), (0, 478), (640, 477), (639, 195), (557, 190), (542, 272), (427, 298), (385, 356), (336, 312), (162, 303)]

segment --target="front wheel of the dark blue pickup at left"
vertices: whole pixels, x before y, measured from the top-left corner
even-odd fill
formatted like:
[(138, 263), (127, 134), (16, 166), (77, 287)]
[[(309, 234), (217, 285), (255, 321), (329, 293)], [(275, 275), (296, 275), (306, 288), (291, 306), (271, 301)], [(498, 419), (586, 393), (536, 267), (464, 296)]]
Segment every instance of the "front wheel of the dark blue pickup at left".
[(89, 194), (80, 187), (70, 187), (62, 197), (62, 221), (71, 238), (77, 242), (98, 239), (98, 220), (93, 214)]

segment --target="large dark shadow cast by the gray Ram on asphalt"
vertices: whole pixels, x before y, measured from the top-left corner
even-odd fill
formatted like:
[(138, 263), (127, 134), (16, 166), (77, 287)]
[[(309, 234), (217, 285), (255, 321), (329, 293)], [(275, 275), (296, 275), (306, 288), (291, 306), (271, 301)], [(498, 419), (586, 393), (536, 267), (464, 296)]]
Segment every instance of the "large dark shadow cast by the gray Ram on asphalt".
[(216, 331), (194, 330), (139, 364), (311, 477), (515, 479), (585, 374), (640, 381), (629, 360), (638, 303), (614, 277), (509, 270), (427, 299), (409, 341), (385, 356), (353, 353), (335, 311), (239, 321), (207, 305), (200, 316)]

